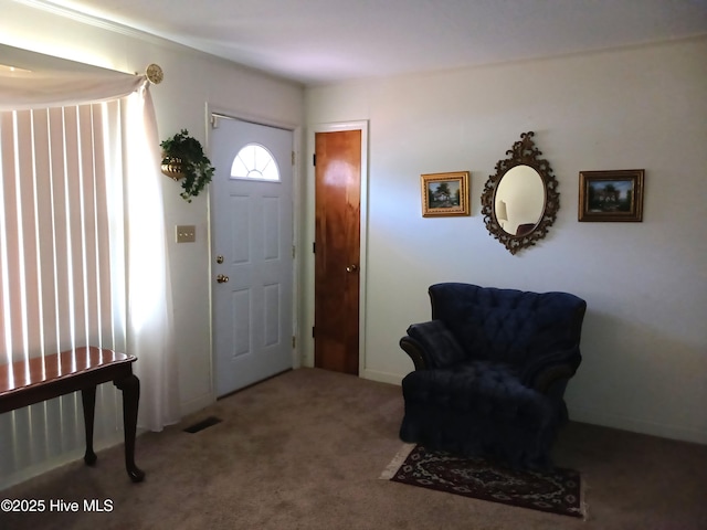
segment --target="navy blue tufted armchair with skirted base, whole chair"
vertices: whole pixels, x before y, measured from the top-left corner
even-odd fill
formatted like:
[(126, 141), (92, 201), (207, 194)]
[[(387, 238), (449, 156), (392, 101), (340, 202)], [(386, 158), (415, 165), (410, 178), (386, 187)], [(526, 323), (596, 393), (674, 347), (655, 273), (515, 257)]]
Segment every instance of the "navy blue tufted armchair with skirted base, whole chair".
[(415, 367), (402, 381), (400, 437), (513, 467), (551, 467), (587, 303), (458, 283), (429, 293), (432, 320), (400, 339)]

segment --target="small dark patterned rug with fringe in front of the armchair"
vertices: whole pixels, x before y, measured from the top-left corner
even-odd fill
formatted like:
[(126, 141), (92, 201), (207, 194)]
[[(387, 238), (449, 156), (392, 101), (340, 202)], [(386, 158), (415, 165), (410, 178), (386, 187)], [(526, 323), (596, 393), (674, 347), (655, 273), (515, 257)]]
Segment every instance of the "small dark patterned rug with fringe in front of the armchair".
[(380, 478), (475, 499), (584, 518), (578, 471), (508, 469), (484, 458), (464, 458), (405, 444)]

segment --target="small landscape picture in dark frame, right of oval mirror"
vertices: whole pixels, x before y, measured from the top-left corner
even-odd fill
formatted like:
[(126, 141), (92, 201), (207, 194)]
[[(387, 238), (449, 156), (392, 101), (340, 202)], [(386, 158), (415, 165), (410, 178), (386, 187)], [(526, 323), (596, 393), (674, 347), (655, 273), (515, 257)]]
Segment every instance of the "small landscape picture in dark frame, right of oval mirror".
[(643, 221), (643, 169), (580, 171), (579, 220)]

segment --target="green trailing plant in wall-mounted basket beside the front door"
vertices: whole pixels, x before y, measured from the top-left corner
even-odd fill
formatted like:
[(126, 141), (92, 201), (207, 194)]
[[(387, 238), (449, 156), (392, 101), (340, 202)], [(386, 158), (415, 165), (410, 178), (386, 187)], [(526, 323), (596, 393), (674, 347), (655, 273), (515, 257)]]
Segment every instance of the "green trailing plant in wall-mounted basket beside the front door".
[(181, 198), (191, 202), (211, 182), (213, 166), (196, 138), (182, 129), (160, 144), (162, 148), (162, 173), (178, 181), (182, 180)]

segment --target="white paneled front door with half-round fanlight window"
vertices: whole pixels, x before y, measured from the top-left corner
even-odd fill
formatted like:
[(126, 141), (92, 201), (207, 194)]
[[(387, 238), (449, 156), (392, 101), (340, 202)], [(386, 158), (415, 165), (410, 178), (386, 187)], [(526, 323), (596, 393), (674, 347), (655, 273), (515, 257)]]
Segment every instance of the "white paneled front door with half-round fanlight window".
[(293, 132), (215, 117), (214, 381), (222, 396), (293, 368)]

